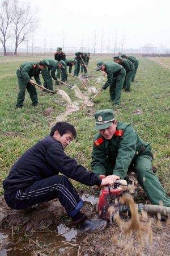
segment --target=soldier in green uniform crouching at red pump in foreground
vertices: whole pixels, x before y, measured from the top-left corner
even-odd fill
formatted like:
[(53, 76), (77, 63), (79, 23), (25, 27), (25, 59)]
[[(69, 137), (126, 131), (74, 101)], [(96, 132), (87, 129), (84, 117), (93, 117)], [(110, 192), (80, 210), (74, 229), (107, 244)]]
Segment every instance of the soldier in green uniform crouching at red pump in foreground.
[(114, 182), (133, 171), (151, 204), (159, 205), (162, 201), (169, 207), (170, 200), (152, 172), (150, 143), (143, 142), (129, 123), (117, 122), (111, 109), (96, 112), (95, 123), (99, 133), (94, 138), (92, 171), (98, 176), (113, 175)]

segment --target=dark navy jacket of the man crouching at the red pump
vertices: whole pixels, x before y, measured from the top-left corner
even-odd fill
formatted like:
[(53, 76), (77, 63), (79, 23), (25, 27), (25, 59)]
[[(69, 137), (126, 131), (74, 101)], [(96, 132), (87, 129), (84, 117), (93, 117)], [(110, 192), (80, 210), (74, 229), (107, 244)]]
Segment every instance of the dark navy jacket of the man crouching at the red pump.
[(94, 172), (67, 156), (61, 142), (48, 136), (29, 148), (12, 166), (3, 181), (4, 194), (27, 188), (38, 180), (61, 174), (85, 185), (100, 185), (101, 179)]

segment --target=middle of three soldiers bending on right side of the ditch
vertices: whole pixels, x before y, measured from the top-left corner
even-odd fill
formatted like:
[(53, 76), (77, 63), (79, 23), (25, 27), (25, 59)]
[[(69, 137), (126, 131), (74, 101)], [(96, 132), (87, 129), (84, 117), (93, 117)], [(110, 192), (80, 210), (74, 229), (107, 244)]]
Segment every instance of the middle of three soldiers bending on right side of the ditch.
[(113, 60), (115, 63), (122, 65), (126, 71), (126, 77), (123, 85), (125, 92), (130, 92), (130, 83), (134, 73), (134, 64), (130, 60), (120, 59), (119, 56), (114, 56)]

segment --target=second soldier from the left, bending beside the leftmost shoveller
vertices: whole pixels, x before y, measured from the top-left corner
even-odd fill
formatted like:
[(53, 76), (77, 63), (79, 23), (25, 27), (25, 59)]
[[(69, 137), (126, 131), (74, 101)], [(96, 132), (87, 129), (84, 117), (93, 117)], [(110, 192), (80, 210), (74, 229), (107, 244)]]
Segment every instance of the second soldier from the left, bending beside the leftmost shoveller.
[[(67, 72), (65, 71), (66, 64), (64, 61), (61, 61), (61, 63), (60, 63), (57, 60), (51, 60), (51, 59), (48, 59), (48, 62), (49, 62), (48, 68), (45, 68), (44, 70), (42, 70), (41, 74), (42, 74), (42, 78), (44, 79), (44, 87), (46, 89), (53, 90), (52, 78), (59, 82), (59, 79), (57, 78), (55, 72), (58, 68), (60, 68), (60, 69), (62, 69), (61, 77), (63, 76), (63, 80), (64, 80), (65, 76), (67, 76)], [(63, 81), (63, 82), (65, 82), (65, 81)], [(44, 91), (47, 92), (46, 90), (44, 90)]]

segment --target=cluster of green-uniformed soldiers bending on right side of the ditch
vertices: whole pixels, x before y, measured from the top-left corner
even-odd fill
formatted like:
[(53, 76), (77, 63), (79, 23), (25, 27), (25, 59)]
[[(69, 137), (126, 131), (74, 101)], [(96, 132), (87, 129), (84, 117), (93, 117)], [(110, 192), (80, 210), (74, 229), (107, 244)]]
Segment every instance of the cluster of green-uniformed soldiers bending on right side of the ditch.
[(100, 88), (105, 90), (109, 87), (110, 100), (113, 105), (118, 105), (121, 98), (122, 89), (130, 92), (130, 84), (134, 82), (137, 73), (139, 60), (134, 56), (126, 56), (125, 54), (113, 57), (113, 61), (97, 63), (96, 71), (104, 71), (108, 76), (107, 82)]

